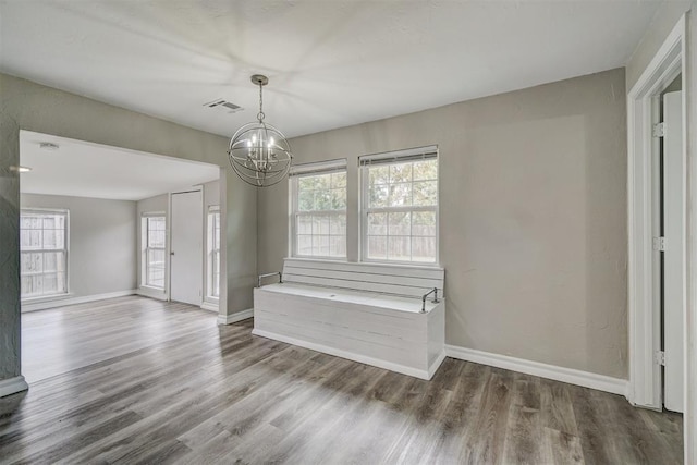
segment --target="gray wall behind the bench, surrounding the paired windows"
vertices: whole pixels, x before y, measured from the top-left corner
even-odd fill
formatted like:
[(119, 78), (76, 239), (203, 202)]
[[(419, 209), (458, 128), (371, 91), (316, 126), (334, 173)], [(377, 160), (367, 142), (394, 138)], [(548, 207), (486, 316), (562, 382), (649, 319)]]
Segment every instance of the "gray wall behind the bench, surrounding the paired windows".
[[(627, 377), (624, 70), (291, 140), (348, 159), (358, 257), (364, 154), (437, 144), (447, 343)], [(288, 254), (288, 186), (259, 193), (259, 272)]]

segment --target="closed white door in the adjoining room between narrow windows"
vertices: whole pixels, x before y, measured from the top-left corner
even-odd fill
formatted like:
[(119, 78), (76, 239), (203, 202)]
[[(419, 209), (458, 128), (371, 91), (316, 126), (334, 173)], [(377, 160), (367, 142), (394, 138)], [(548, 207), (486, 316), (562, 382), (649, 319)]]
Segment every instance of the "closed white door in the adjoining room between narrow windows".
[(204, 201), (200, 191), (172, 194), (170, 298), (201, 304)]

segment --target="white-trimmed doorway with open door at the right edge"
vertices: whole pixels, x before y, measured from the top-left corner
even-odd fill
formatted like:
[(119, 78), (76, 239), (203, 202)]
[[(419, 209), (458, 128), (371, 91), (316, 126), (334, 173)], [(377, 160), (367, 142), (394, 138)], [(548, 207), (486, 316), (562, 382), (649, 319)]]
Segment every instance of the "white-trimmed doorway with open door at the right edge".
[[(687, 322), (687, 126), (683, 15), (627, 94), (629, 383), (634, 405), (684, 411), (693, 456)], [(690, 265), (690, 268), (688, 268)], [(690, 301), (693, 302), (693, 301)], [(693, 309), (694, 311), (694, 309)], [(665, 365), (664, 365), (665, 364)]]

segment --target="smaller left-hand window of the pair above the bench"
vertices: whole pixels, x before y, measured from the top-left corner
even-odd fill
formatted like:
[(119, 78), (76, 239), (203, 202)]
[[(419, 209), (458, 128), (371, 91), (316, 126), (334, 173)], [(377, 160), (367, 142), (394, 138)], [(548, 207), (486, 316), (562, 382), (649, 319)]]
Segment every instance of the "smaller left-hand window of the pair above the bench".
[(293, 255), (346, 258), (346, 161), (295, 167), (291, 189)]

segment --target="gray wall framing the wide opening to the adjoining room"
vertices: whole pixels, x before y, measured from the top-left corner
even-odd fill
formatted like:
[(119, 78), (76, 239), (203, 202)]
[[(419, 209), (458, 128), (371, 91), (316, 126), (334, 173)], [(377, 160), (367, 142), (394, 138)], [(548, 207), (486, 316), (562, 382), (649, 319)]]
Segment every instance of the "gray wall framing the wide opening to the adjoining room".
[[(0, 74), (0, 380), (20, 369), (20, 129), (227, 167), (225, 137)], [(227, 298), (222, 314), (252, 307), (256, 191), (225, 170)]]

